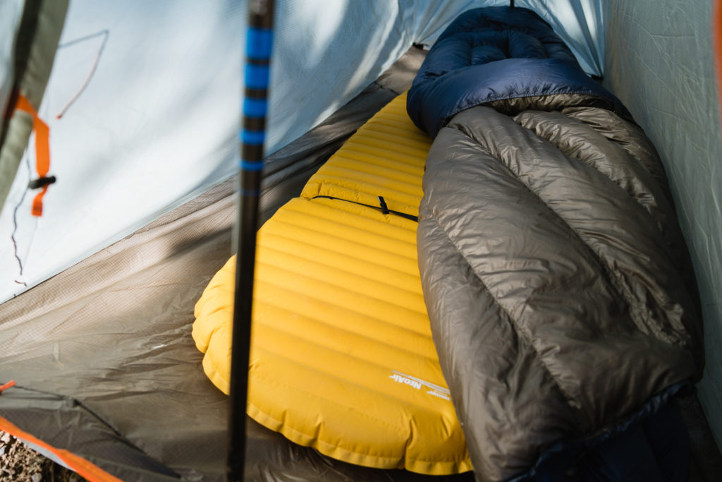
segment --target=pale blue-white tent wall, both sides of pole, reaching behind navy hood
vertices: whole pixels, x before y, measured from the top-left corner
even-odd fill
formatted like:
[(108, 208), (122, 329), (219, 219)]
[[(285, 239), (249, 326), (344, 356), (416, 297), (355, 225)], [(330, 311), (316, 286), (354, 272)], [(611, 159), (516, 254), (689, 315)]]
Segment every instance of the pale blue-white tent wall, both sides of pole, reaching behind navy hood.
[[(58, 183), (43, 218), (30, 216), (30, 147), (0, 213), (0, 302), (232, 175), (246, 4), (71, 2), (39, 109)], [(506, 4), (278, 1), (267, 152), (326, 119), (412, 43), (432, 43), (459, 12)], [(601, 62), (601, 27), (590, 26), (600, 4), (526, 2), (587, 66)]]

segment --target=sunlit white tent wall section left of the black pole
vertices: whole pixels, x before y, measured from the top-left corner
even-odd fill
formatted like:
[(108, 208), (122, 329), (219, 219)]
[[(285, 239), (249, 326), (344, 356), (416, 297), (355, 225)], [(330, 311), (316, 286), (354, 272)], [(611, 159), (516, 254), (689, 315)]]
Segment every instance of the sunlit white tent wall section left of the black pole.
[[(25, 288), (17, 281), (30, 287), (144, 225), (232, 158), (226, 138), (235, 135), (239, 94), (229, 87), (238, 87), (243, 17), (184, 3), (71, 2), (39, 109), (58, 184), (43, 218), (31, 218), (30, 148), (0, 218), (1, 298)], [(56, 119), (96, 61), (87, 89)], [(16, 207), (23, 277), (11, 240)]]

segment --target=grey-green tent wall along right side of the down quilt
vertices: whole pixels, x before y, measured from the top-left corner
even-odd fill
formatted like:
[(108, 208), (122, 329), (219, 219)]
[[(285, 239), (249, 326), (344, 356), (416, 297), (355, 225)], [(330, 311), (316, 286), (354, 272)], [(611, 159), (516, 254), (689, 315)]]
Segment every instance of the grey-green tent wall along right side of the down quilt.
[(605, 83), (656, 145), (695, 265), (707, 366), (698, 396), (722, 446), (722, 142), (713, 2), (614, 0)]

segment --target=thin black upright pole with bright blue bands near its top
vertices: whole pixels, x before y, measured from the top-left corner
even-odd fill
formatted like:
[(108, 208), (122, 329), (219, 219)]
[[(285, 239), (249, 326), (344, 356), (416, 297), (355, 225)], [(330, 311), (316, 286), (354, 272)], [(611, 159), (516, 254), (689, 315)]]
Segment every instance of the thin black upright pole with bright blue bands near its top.
[(235, 298), (230, 366), (227, 480), (243, 480), (248, 355), (251, 345), (251, 305), (256, 260), (258, 201), (264, 165), (269, 62), (273, 40), (273, 0), (248, 1), (243, 127), (240, 132), (240, 175), (235, 228)]

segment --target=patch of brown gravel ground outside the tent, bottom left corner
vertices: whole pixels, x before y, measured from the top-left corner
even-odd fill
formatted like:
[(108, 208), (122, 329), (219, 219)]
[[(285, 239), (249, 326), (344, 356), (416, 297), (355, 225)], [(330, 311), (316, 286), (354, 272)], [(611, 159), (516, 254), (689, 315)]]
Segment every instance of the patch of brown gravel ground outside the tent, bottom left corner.
[(85, 479), (0, 431), (0, 481), (83, 482)]

